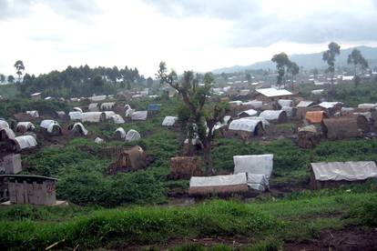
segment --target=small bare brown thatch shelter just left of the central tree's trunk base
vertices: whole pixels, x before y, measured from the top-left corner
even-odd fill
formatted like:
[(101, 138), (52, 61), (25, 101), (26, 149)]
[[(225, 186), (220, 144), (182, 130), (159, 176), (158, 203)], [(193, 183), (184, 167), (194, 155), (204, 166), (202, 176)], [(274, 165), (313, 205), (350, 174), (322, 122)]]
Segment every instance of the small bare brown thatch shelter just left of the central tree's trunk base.
[(196, 156), (177, 156), (170, 158), (170, 177), (173, 179), (189, 178), (202, 174), (199, 159)]

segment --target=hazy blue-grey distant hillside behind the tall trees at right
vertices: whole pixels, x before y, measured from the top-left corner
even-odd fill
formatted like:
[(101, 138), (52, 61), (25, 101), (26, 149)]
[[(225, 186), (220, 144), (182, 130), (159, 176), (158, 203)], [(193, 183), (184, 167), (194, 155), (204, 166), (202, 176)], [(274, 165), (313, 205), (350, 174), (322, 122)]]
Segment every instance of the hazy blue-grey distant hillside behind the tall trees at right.
[[(368, 60), (370, 66), (377, 66), (377, 47), (368, 47), (368, 46), (359, 46), (356, 47), (361, 52), (362, 55)], [(341, 55), (336, 58), (337, 65), (347, 65), (348, 55), (352, 52), (353, 48), (341, 50)], [(272, 55), (271, 55), (272, 57)], [(290, 55), (290, 60), (296, 62), (298, 65), (303, 66), (307, 69), (313, 68), (324, 68), (326, 67), (325, 63), (322, 61), (322, 53), (313, 53), (313, 54), (299, 54), (299, 55)], [(225, 67), (213, 70), (214, 74), (220, 73), (234, 73), (244, 70), (257, 70), (257, 69), (275, 69), (276, 65), (269, 61), (262, 61), (252, 65), (235, 65), (231, 67)]]

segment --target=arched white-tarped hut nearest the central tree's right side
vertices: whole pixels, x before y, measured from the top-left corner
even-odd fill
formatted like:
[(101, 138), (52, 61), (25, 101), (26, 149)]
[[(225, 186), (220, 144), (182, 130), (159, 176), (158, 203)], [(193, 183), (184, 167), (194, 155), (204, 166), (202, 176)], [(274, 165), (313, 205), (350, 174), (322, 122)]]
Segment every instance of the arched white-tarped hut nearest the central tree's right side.
[(250, 139), (251, 136), (263, 136), (262, 122), (257, 119), (240, 118), (229, 124), (228, 136), (239, 136), (242, 139)]

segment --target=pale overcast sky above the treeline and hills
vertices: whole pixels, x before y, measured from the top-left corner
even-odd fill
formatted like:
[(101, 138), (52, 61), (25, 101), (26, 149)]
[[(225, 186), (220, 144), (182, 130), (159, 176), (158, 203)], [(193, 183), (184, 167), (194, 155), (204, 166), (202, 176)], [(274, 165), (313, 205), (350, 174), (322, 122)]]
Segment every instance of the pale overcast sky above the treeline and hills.
[(0, 73), (67, 65), (209, 71), (377, 45), (377, 0), (0, 0)]

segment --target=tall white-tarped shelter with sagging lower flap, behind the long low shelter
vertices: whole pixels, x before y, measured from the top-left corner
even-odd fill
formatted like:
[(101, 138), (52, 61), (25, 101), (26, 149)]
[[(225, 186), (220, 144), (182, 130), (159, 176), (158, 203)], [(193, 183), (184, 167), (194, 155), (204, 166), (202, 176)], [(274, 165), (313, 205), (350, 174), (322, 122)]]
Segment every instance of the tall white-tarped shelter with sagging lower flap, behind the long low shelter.
[(234, 174), (246, 173), (248, 186), (265, 191), (269, 188), (273, 155), (233, 156)]

